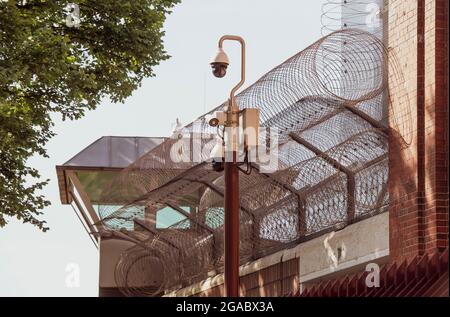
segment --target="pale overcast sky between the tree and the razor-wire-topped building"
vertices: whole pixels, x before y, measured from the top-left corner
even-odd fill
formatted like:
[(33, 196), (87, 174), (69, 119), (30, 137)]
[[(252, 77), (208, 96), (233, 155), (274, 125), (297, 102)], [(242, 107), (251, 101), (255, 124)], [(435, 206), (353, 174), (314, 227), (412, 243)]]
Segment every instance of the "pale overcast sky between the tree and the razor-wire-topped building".
[[(76, 2), (76, 1), (74, 1)], [(179, 118), (187, 124), (226, 100), (239, 77), (239, 47), (227, 43), (229, 76), (215, 79), (208, 65), (224, 34), (247, 42), (247, 85), (321, 36), (324, 0), (184, 0), (165, 24), (172, 58), (155, 69), (125, 104), (103, 102), (75, 122), (55, 117), (50, 159), (31, 164), (51, 182), (50, 231), (11, 220), (0, 229), (0, 296), (97, 296), (98, 253), (70, 206), (59, 201), (55, 166), (102, 136), (168, 136)], [(82, 14), (82, 12), (81, 12)], [(80, 268), (80, 286), (66, 286), (66, 269)]]

